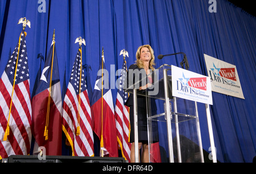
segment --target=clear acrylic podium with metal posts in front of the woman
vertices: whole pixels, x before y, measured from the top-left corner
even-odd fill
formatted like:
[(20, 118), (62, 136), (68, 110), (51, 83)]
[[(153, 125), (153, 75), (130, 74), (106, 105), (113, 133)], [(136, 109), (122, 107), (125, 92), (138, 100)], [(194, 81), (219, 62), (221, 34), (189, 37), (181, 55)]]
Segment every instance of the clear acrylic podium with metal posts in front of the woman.
[[(134, 94), (134, 123), (131, 124), (135, 129), (135, 162), (139, 162), (137, 95), (146, 96), (150, 162), (155, 162), (156, 156), (162, 162), (204, 162), (197, 103), (172, 96), (171, 66), (162, 65), (154, 73), (154, 84), (146, 92), (137, 90), (136, 84), (126, 90)], [(158, 114), (151, 114), (151, 99), (156, 101)], [(158, 125), (158, 144), (152, 142), (155, 124)]]

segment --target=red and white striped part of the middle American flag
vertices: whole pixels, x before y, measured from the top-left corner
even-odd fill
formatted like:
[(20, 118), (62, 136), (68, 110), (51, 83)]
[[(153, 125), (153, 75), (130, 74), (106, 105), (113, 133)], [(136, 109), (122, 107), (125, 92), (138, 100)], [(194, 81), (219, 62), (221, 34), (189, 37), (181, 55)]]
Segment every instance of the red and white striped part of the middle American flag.
[(63, 131), (71, 143), (73, 155), (93, 156), (92, 115), (87, 91), (81, 92), (80, 97), (80, 135), (76, 136), (79, 95), (69, 83), (63, 103)]

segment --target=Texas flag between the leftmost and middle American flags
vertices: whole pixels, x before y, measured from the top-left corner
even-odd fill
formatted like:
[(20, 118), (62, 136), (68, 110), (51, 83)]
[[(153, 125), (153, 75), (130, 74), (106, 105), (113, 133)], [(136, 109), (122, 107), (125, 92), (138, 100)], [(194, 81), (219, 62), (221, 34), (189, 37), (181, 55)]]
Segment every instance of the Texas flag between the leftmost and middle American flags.
[[(32, 134), (46, 155), (61, 155), (62, 100), (55, 41), (32, 97)], [(35, 150), (35, 148), (34, 148)]]

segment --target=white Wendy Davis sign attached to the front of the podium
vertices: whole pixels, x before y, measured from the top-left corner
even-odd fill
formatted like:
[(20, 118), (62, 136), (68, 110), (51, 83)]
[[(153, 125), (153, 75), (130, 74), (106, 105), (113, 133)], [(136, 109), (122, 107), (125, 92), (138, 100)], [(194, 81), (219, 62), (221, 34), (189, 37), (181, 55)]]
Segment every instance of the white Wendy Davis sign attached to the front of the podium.
[(210, 78), (172, 65), (172, 95), (212, 105)]

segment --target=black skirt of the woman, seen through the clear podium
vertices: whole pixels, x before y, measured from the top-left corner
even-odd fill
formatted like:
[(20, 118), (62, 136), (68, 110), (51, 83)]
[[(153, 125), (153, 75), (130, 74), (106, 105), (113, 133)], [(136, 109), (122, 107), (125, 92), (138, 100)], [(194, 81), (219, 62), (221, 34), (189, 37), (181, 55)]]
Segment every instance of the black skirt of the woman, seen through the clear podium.
[[(134, 142), (134, 107), (130, 107), (130, 124), (131, 124), (131, 133), (130, 133), (130, 143)], [(138, 106), (138, 139), (139, 143), (148, 144), (148, 135), (147, 135), (147, 111), (144, 108)], [(159, 142), (158, 135), (158, 122), (152, 122), (152, 142)]]

